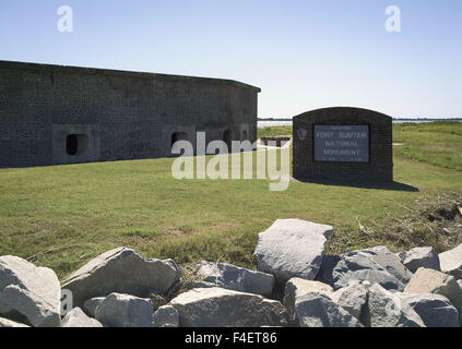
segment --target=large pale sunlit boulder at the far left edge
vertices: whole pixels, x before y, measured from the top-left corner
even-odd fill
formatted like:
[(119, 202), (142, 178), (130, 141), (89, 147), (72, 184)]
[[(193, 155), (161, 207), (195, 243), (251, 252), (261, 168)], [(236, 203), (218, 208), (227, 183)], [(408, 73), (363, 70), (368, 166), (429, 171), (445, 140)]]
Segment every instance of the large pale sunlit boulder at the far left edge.
[(15, 256), (0, 257), (0, 314), (35, 327), (59, 327), (60, 301), (54, 270)]

